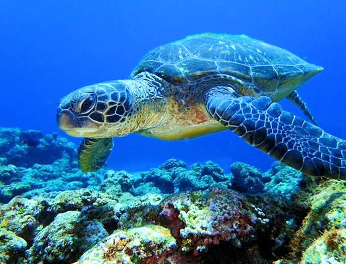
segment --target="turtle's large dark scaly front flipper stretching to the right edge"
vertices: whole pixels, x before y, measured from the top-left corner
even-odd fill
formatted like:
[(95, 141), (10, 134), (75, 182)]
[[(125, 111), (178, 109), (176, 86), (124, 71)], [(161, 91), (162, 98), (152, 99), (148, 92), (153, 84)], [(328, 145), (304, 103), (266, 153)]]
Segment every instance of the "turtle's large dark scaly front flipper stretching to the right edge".
[(267, 96), (236, 97), (216, 87), (205, 96), (209, 114), (252, 146), (309, 176), (346, 179), (346, 141), (290, 112)]

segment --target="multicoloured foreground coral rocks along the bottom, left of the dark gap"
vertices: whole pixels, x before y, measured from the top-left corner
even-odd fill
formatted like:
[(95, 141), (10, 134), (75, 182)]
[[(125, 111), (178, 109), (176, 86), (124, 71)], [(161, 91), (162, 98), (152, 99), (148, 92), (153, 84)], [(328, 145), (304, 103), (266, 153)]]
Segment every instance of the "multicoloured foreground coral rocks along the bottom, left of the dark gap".
[[(4, 252), (28, 263), (70, 263), (85, 251), (80, 263), (96, 258), (100, 263), (160, 263), (163, 259), (199, 263), (221, 242), (233, 248), (248, 248), (251, 243), (253, 247), (258, 232), (278, 221), (280, 217), (274, 216), (281, 209), (273, 206), (275, 201), (253, 202), (217, 187), (166, 199), (151, 193), (114, 197), (88, 189), (65, 191), (54, 198), (18, 196), (0, 207), (2, 230), (12, 234), (4, 239)], [(16, 247), (11, 246), (15, 239), (21, 242)]]

